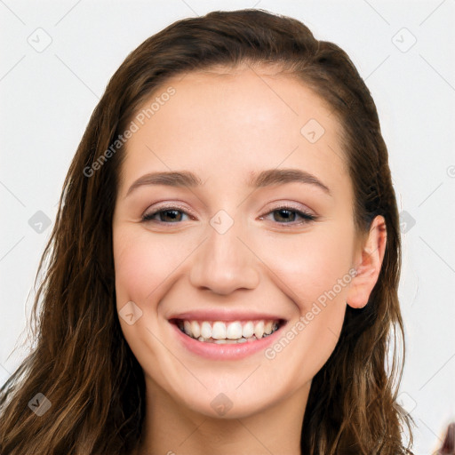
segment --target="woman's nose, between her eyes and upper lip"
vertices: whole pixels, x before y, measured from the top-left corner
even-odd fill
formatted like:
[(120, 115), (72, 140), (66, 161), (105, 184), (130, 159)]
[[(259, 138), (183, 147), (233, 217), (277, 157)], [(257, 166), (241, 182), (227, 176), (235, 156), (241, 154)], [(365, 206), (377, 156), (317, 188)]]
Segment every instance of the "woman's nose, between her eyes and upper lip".
[(224, 233), (209, 224), (208, 236), (193, 258), (189, 274), (193, 286), (216, 294), (258, 286), (259, 259), (245, 229), (236, 220)]

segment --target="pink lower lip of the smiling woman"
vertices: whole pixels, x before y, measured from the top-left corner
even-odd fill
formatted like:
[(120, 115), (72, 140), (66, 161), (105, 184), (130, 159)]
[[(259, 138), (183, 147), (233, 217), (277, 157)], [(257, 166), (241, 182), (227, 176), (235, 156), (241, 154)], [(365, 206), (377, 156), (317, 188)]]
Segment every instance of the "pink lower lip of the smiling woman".
[(177, 332), (180, 343), (192, 353), (211, 360), (237, 360), (264, 350), (271, 345), (279, 336), (284, 324), (266, 338), (231, 344), (205, 343), (204, 341), (198, 341), (180, 331), (175, 323), (171, 323), (171, 325), (174, 331)]

